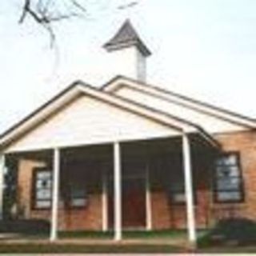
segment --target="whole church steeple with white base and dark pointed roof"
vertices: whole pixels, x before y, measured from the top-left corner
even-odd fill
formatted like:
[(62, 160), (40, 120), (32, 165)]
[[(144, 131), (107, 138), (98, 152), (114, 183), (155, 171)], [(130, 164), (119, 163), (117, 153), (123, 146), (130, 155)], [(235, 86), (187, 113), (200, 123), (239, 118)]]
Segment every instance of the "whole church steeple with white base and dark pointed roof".
[(103, 47), (115, 57), (115, 70), (139, 81), (146, 81), (146, 58), (151, 55), (129, 19)]

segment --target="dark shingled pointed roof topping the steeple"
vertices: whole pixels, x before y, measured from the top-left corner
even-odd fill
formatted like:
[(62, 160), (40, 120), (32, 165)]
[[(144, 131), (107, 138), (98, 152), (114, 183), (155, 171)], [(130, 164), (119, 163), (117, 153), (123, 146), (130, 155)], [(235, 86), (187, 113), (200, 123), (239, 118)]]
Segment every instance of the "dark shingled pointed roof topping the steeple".
[(149, 56), (151, 54), (150, 50), (142, 42), (141, 38), (139, 38), (136, 30), (134, 30), (130, 20), (127, 19), (126, 22), (124, 22), (121, 28), (118, 30), (118, 33), (115, 34), (114, 37), (110, 39), (110, 41), (106, 42), (103, 47), (108, 51), (112, 51), (129, 46), (137, 46), (144, 56)]

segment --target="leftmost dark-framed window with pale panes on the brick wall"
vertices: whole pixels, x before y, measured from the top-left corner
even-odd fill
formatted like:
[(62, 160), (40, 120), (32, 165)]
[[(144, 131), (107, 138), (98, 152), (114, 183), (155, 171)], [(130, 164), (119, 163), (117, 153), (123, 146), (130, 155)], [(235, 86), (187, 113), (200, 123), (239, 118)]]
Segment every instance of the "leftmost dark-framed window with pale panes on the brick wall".
[(50, 208), (51, 192), (52, 175), (50, 170), (34, 170), (34, 208)]

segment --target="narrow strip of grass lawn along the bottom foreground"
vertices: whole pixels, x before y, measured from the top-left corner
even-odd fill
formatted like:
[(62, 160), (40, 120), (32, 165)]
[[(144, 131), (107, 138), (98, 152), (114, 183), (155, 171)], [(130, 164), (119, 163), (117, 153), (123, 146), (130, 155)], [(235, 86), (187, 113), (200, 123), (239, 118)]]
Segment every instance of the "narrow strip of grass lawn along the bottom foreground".
[(9, 254), (58, 254), (58, 253), (200, 253), (200, 254), (245, 254), (256, 253), (256, 246), (225, 246), (225, 247), (209, 247), (189, 250), (184, 247), (171, 245), (149, 245), (149, 244), (134, 244), (134, 245), (75, 245), (74, 243), (54, 244), (54, 243), (27, 243), (27, 244), (0, 244), (0, 253)]

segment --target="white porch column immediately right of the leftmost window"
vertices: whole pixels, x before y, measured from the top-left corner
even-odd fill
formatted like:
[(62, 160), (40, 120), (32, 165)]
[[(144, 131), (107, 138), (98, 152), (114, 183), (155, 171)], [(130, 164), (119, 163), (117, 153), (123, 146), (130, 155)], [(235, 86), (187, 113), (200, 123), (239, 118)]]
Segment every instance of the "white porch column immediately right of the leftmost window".
[(50, 241), (58, 237), (58, 192), (59, 192), (59, 174), (60, 174), (60, 152), (58, 148), (54, 149), (53, 156), (53, 192), (52, 192), (52, 215), (50, 227)]

